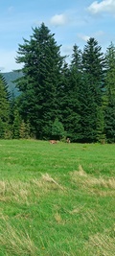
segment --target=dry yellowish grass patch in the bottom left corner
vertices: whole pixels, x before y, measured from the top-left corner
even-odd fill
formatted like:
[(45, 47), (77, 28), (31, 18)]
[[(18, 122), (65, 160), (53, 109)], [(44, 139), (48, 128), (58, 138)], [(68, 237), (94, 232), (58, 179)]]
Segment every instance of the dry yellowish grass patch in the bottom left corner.
[[(21, 229), (12, 226), (5, 219), (2, 220), (0, 244), (6, 249), (9, 256), (12, 255), (36, 255), (37, 248), (24, 227)], [(6, 254), (7, 255), (7, 254)]]

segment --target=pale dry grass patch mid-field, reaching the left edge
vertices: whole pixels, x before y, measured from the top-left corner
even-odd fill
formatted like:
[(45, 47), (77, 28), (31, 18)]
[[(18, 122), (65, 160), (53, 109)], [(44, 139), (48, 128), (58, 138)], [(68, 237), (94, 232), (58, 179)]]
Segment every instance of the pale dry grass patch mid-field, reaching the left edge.
[(30, 204), (33, 200), (35, 201), (35, 199), (52, 190), (63, 191), (64, 188), (48, 174), (27, 182), (18, 180), (0, 181), (0, 200)]

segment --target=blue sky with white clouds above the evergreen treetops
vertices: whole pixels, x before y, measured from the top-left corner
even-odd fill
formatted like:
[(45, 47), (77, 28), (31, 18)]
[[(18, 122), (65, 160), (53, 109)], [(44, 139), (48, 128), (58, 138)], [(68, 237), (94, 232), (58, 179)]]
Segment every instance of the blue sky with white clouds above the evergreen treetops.
[(11, 72), (17, 64), (18, 44), (33, 35), (41, 23), (55, 34), (62, 56), (70, 61), (73, 46), (81, 50), (94, 37), (102, 52), (115, 44), (115, 0), (0, 0), (0, 70)]

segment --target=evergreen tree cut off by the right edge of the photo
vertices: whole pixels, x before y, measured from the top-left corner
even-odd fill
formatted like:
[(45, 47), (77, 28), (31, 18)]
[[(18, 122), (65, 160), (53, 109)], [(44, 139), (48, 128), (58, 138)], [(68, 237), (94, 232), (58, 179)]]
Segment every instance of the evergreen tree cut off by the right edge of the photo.
[(106, 139), (108, 142), (115, 142), (115, 46), (112, 42), (106, 50), (104, 92)]

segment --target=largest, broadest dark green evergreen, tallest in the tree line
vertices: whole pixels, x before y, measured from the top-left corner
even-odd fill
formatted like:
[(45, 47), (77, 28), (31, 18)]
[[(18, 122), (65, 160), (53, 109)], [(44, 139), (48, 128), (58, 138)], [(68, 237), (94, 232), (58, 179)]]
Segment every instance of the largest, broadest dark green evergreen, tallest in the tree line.
[(24, 44), (19, 44), (17, 53), (16, 62), (24, 63), (24, 76), (17, 81), (22, 92), (20, 113), (24, 122), (30, 122), (36, 138), (49, 138), (58, 115), (58, 82), (64, 59), (60, 56), (60, 46), (42, 23), (33, 29), (30, 40), (24, 39)]

